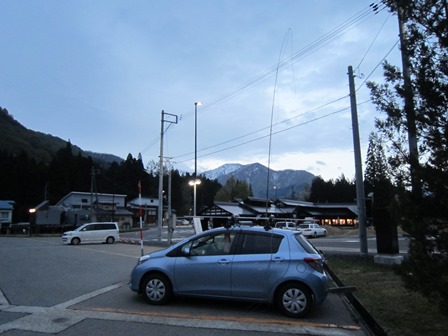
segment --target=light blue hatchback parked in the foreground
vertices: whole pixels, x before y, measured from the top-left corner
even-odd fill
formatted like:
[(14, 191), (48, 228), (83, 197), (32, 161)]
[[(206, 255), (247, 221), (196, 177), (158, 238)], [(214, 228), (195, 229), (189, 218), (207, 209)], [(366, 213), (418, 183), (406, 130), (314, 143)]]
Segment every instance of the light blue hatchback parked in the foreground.
[(322, 256), (299, 232), (217, 228), (139, 258), (131, 290), (153, 305), (173, 296), (269, 302), (303, 317), (327, 296)]

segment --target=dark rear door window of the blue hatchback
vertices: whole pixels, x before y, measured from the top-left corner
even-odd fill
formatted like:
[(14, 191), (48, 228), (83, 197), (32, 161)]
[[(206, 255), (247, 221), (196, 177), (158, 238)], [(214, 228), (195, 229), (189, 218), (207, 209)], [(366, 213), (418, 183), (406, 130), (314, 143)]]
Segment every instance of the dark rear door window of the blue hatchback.
[(238, 254), (277, 253), (282, 239), (283, 236), (274, 234), (243, 234)]

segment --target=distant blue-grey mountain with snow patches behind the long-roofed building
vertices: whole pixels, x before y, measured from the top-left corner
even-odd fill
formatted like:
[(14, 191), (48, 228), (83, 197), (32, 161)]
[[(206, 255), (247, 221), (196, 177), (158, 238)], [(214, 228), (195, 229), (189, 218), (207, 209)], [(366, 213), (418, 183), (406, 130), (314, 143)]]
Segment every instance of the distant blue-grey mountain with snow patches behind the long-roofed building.
[(233, 176), (239, 181), (245, 181), (252, 187), (253, 196), (257, 198), (302, 198), (306, 194), (315, 178), (305, 170), (269, 170), (260, 163), (242, 165), (229, 163), (202, 175), (208, 179), (216, 179), (224, 185)]

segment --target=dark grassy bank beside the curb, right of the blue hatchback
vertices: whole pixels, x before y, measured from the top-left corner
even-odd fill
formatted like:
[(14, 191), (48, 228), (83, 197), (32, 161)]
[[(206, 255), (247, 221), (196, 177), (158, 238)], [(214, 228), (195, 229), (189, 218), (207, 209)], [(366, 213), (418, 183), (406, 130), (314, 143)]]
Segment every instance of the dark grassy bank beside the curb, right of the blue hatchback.
[(326, 255), (327, 263), (391, 336), (447, 335), (448, 316), (418, 293), (406, 290), (392, 266), (373, 257)]

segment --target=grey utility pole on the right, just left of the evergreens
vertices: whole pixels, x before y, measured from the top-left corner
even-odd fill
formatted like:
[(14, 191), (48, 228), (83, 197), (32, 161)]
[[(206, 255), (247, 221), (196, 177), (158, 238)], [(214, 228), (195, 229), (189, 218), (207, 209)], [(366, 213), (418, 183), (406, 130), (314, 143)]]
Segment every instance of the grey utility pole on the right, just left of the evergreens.
[(350, 105), (352, 111), (353, 146), (355, 152), (356, 169), (356, 199), (358, 204), (358, 228), (361, 254), (367, 255), (367, 233), (366, 233), (366, 200), (364, 192), (364, 178), (362, 174), (361, 145), (359, 141), (358, 110), (356, 106), (355, 79), (353, 67), (348, 67), (348, 81), (350, 87)]

